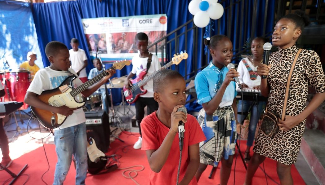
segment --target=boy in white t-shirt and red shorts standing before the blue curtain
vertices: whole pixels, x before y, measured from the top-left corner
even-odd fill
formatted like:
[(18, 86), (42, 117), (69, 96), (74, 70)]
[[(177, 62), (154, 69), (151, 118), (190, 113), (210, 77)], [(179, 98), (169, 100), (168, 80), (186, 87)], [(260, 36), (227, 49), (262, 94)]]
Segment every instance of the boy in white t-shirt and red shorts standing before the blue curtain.
[(86, 67), (88, 59), (83, 49), (79, 48), (79, 41), (76, 38), (72, 38), (70, 45), (72, 47), (69, 50), (71, 68), (77, 73), (80, 80), (85, 83), (87, 81)]

